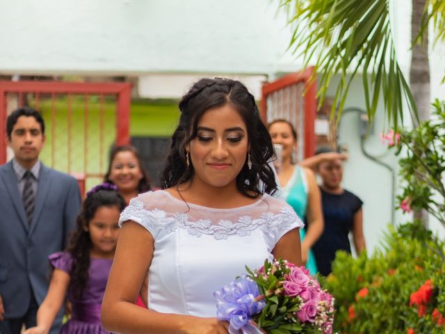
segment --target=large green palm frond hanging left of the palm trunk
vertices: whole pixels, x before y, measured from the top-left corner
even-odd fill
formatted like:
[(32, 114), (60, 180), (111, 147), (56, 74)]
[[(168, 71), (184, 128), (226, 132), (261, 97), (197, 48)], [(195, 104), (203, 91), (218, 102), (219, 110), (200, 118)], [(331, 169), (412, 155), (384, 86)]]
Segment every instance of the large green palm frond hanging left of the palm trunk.
[[(430, 0), (438, 1), (441, 0)], [(295, 29), (289, 48), (314, 62), (319, 105), (334, 75), (340, 80), (332, 114), (341, 116), (353, 79), (362, 72), (366, 109), (373, 120), (382, 96), (389, 122), (403, 122), (403, 101), (416, 117), (416, 105), (398, 65), (389, 22), (388, 0), (282, 0)]]

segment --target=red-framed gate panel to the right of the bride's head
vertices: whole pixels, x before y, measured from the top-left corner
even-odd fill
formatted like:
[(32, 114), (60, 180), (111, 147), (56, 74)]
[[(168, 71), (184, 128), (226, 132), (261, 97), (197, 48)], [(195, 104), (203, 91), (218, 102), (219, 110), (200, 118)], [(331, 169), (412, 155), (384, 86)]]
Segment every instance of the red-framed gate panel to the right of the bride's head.
[(268, 123), (277, 118), (289, 120), (298, 133), (298, 160), (315, 152), (316, 83), (309, 83), (314, 67), (287, 74), (263, 85), (261, 118)]

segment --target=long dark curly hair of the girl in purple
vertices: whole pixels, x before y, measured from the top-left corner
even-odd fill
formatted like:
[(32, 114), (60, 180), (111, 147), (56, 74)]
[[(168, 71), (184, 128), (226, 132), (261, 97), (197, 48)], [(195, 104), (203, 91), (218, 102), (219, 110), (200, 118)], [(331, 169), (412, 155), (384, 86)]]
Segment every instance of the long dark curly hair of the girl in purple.
[(90, 192), (83, 202), (81, 212), (77, 216), (76, 228), (70, 237), (67, 252), (74, 258), (71, 271), (70, 289), (76, 298), (81, 298), (83, 289), (88, 280), (90, 268), (90, 248), (92, 246), (90, 232), (86, 230), (90, 220), (95, 216), (99, 207), (116, 207), (120, 212), (125, 208), (125, 200), (116, 190), (104, 186), (95, 187), (95, 192)]

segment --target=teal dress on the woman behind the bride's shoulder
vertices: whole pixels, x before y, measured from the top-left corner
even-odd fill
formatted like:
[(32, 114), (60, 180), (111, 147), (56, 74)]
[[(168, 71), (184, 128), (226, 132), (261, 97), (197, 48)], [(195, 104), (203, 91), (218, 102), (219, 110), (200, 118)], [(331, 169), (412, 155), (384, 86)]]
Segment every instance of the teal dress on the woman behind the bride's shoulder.
[[(305, 170), (303, 170), (303, 168), (300, 166), (295, 166), (289, 182), (287, 182), (286, 186), (284, 186), (282, 189), (282, 193), (286, 202), (291, 205), (296, 214), (298, 214), (302, 221), (304, 221), (307, 210), (308, 186)], [(300, 230), (300, 239), (305, 239), (305, 235), (306, 228), (302, 228)], [(309, 270), (311, 275), (315, 275), (318, 271), (312, 250), (309, 250), (306, 269)]]

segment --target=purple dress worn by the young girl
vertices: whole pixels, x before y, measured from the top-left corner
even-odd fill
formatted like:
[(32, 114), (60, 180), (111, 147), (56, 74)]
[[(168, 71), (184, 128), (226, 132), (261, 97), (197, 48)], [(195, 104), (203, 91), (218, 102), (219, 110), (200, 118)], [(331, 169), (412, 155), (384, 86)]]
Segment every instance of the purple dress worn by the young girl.
[[(54, 268), (71, 274), (74, 258), (70, 253), (57, 252), (49, 255), (49, 262)], [(62, 326), (61, 334), (106, 334), (100, 321), (100, 308), (108, 273), (113, 259), (96, 259), (90, 257), (88, 280), (81, 299), (76, 299), (71, 287), (67, 299), (72, 303), (72, 317)]]

